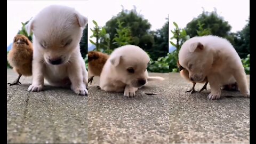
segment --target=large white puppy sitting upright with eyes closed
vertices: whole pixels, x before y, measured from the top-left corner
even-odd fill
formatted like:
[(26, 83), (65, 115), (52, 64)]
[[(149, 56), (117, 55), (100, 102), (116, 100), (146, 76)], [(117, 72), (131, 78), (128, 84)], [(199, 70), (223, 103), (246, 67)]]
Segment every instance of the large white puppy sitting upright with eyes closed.
[[(88, 74), (79, 41), (87, 18), (67, 6), (45, 7), (26, 25), (33, 31), (33, 82), (28, 91), (41, 91), (44, 78), (53, 86), (71, 87), (86, 95)], [(71, 85), (70, 85), (71, 84)]]

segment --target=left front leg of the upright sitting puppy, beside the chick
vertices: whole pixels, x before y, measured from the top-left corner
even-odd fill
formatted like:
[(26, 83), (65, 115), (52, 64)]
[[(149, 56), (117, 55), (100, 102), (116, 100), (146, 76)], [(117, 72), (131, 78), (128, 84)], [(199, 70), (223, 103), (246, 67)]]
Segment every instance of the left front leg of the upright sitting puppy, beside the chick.
[(28, 91), (42, 91), (44, 87), (44, 64), (42, 61), (34, 59), (32, 61), (32, 84), (28, 87)]

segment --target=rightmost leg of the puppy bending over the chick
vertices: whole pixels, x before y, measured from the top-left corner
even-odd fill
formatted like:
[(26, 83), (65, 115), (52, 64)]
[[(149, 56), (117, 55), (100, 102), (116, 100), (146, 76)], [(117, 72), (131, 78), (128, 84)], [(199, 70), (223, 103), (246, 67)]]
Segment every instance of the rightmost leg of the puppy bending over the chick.
[(241, 68), (239, 70), (234, 70), (233, 76), (236, 79), (240, 92), (244, 95), (244, 97), (250, 98), (250, 91), (248, 88), (244, 68)]

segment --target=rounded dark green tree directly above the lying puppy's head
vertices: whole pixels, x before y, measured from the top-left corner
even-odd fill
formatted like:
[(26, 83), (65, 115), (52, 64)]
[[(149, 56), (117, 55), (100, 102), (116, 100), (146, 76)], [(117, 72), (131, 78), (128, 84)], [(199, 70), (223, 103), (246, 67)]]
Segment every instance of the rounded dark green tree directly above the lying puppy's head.
[(106, 31), (110, 35), (110, 49), (118, 47), (113, 43), (113, 39), (117, 34), (116, 28), (118, 28), (117, 21), (123, 22), (123, 27), (129, 27), (131, 30), (132, 43), (140, 46), (142, 49), (147, 50), (154, 44), (154, 37), (149, 35), (149, 29), (151, 27), (148, 20), (144, 19), (142, 15), (133, 10), (122, 10), (115, 17), (106, 22)]

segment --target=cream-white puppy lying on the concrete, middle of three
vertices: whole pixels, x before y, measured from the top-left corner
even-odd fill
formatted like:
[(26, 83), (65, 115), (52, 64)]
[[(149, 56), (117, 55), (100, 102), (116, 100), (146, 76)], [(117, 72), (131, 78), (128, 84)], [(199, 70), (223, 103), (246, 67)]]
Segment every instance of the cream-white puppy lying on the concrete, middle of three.
[(100, 74), (100, 88), (108, 92), (123, 92), (125, 97), (134, 97), (135, 91), (147, 81), (163, 80), (149, 77), (148, 54), (135, 45), (121, 46), (113, 51)]

